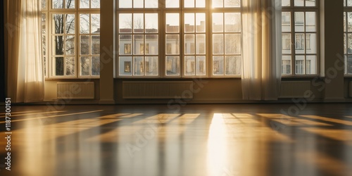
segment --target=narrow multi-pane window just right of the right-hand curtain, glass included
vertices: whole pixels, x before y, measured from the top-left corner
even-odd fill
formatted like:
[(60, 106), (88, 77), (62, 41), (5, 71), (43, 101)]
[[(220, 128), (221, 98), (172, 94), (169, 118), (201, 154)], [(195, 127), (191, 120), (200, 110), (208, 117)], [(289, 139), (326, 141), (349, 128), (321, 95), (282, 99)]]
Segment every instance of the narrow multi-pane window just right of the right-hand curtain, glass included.
[(283, 76), (318, 75), (318, 3), (315, 0), (282, 0)]

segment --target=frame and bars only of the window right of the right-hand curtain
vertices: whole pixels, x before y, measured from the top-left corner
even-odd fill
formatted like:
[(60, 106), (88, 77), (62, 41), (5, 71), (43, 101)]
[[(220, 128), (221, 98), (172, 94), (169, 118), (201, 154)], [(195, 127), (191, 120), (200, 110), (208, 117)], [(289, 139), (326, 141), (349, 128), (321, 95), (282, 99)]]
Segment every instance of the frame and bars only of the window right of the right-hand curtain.
[[(284, 75), (282, 77), (317, 77), (320, 75), (320, 1), (315, 0), (315, 6), (306, 6), (306, 1), (303, 0), (303, 6), (295, 6), (295, 0), (289, 0), (290, 6), (282, 6), (282, 12), (289, 12), (290, 16), (290, 25), (291, 25), (291, 32), (282, 32), (282, 34), (291, 34), (291, 74)], [(304, 32), (296, 32), (295, 30), (295, 12), (303, 12), (303, 20), (304, 20)], [(307, 12), (315, 12), (315, 32), (306, 32), (306, 13)], [(296, 34), (303, 34), (304, 35), (304, 54), (296, 54)], [(307, 34), (315, 34), (316, 38), (316, 54), (307, 54)], [(310, 39), (310, 43), (312, 40)], [(290, 54), (282, 54), (282, 58), (284, 56), (289, 56)], [(304, 56), (304, 74), (297, 74), (296, 73), (296, 56)], [(306, 61), (307, 56), (316, 56), (316, 65), (315, 65), (315, 74), (307, 74), (307, 67)], [(297, 60), (301, 61), (301, 60)], [(282, 65), (283, 66), (283, 65)], [(310, 69), (309, 69), (310, 70)]]

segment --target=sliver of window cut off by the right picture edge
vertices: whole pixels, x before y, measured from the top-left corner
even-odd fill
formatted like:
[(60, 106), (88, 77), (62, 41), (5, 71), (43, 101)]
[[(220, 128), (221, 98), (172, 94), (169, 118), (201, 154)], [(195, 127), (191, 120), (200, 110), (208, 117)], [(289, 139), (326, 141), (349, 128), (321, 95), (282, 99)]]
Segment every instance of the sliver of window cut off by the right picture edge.
[(344, 73), (352, 76), (352, 1), (344, 0)]

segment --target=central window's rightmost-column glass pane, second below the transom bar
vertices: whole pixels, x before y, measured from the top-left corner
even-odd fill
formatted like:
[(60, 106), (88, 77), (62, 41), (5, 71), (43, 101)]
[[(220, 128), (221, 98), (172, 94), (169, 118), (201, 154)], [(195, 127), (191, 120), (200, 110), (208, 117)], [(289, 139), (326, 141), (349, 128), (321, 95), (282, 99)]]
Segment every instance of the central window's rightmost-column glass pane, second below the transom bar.
[(241, 54), (241, 34), (225, 34), (225, 54)]

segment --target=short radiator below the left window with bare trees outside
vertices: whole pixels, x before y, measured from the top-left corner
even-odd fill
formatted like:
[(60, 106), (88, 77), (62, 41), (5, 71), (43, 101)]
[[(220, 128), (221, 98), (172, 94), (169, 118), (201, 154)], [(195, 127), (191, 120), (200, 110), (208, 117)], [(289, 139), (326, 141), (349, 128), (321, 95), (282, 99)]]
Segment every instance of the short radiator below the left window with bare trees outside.
[(58, 82), (58, 99), (94, 99), (94, 82)]

